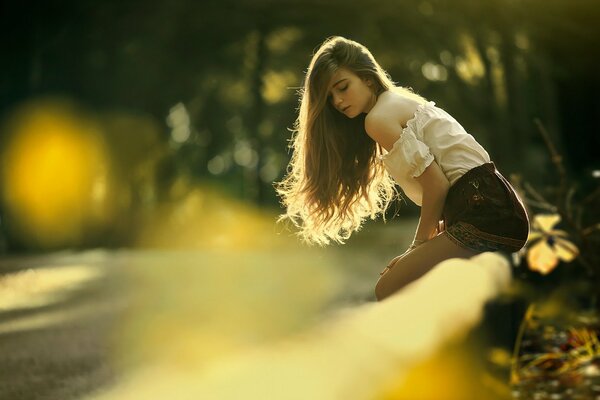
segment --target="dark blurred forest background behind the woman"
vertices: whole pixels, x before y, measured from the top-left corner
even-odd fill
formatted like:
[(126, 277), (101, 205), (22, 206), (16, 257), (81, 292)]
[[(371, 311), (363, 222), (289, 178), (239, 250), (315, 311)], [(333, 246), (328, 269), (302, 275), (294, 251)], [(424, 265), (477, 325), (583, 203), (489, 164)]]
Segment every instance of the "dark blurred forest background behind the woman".
[[(450, 112), (507, 177), (555, 178), (536, 118), (568, 172), (590, 175), (600, 167), (599, 17), (593, 0), (3, 2), (0, 254), (132, 245), (153, 210), (195, 184), (276, 216), (297, 89), (331, 35), (365, 44), (395, 82)], [(29, 158), (10, 149), (44, 110), (92, 121), (107, 154), (85, 175), (100, 211), (90, 222), (72, 197), (61, 218), (76, 214), (75, 233), (62, 237), (23, 228), (34, 213), (15, 206), (25, 203), (10, 182), (32, 172), (7, 178), (13, 160), (35, 168), (43, 143), (28, 142)], [(77, 165), (42, 174), (40, 209)]]

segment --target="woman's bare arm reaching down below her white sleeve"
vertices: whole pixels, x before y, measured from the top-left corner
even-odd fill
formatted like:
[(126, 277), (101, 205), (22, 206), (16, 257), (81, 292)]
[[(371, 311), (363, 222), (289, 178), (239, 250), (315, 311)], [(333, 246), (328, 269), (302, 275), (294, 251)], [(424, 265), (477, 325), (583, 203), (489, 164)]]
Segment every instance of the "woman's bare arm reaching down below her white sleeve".
[(415, 240), (427, 241), (437, 233), (450, 182), (435, 161), (432, 161), (425, 171), (415, 179), (423, 189), (421, 217), (415, 233)]

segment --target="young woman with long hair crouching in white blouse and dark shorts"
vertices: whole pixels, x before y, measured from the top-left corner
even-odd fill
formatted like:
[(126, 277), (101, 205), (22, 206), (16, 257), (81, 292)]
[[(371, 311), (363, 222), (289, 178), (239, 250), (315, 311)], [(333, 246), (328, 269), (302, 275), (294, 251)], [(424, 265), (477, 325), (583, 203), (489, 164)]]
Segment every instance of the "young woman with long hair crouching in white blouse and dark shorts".
[[(343, 243), (398, 192), (421, 207), (414, 240), (380, 273), (381, 300), (439, 262), (518, 251), (529, 219), (486, 150), (432, 101), (396, 86), (369, 50), (343, 37), (312, 57), (285, 178), (286, 213), (309, 243)], [(384, 216), (385, 218), (385, 216)]]

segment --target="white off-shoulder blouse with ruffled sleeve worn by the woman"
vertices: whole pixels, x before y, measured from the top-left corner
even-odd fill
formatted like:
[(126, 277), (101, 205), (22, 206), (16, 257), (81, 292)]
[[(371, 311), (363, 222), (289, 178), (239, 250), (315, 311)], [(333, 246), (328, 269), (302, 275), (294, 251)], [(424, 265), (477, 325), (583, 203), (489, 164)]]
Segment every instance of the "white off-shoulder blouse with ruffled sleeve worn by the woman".
[(414, 179), (433, 160), (453, 185), (465, 172), (490, 162), (485, 149), (433, 101), (420, 104), (402, 135), (380, 160), (404, 194), (422, 204), (423, 191)]

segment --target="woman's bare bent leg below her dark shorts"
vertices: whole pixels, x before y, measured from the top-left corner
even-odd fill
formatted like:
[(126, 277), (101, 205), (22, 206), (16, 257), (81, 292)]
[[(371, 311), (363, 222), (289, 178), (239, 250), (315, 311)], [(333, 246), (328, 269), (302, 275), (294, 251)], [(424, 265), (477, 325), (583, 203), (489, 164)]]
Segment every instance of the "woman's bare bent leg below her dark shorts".
[(446, 232), (423, 243), (383, 274), (375, 285), (375, 296), (381, 301), (429, 272), (449, 258), (470, 258), (478, 254), (454, 243)]

